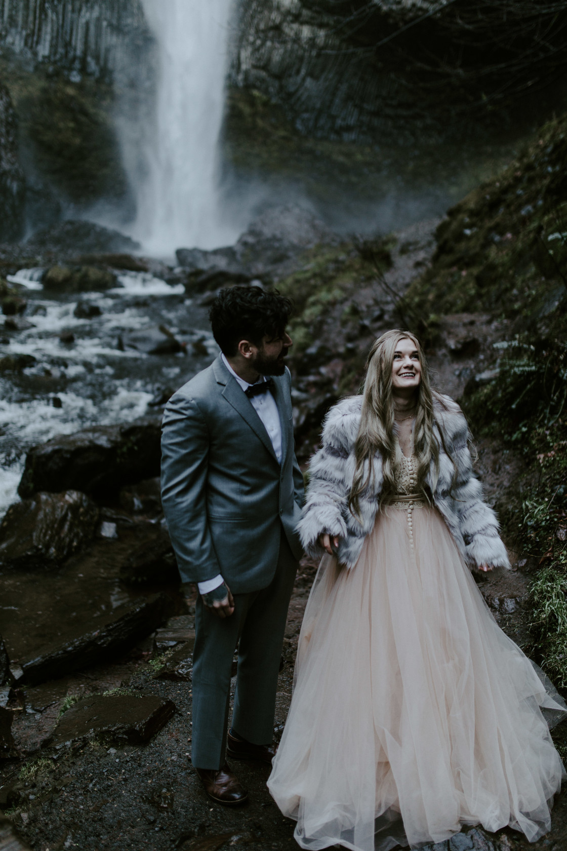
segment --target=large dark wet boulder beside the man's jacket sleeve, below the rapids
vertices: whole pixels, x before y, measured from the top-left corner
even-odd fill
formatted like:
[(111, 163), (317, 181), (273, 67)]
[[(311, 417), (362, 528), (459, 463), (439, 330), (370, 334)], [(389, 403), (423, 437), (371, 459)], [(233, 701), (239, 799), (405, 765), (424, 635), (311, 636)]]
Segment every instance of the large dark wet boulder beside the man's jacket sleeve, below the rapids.
[(94, 426), (32, 447), (18, 493), (77, 489), (116, 493), (124, 485), (158, 476), (161, 422), (147, 417), (122, 426)]

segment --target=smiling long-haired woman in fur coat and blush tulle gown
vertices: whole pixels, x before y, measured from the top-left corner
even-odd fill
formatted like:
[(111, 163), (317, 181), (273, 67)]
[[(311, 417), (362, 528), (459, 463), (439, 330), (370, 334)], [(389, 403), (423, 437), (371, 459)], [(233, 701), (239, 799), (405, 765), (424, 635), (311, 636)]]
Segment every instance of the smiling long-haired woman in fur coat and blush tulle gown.
[(299, 531), (327, 555), (268, 783), (299, 845), (388, 851), (475, 824), (541, 837), (566, 775), (539, 707), (567, 707), (468, 570), (507, 553), (466, 420), (412, 334), (383, 334), (363, 395), (327, 415)]

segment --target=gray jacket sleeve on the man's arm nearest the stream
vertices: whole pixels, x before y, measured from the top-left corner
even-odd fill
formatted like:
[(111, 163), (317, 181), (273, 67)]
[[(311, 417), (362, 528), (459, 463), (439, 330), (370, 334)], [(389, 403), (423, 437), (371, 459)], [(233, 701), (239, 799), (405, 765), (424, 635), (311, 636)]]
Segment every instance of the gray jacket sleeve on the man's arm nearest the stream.
[(207, 423), (194, 399), (175, 396), (162, 423), (162, 505), (183, 582), (220, 574), (207, 522)]

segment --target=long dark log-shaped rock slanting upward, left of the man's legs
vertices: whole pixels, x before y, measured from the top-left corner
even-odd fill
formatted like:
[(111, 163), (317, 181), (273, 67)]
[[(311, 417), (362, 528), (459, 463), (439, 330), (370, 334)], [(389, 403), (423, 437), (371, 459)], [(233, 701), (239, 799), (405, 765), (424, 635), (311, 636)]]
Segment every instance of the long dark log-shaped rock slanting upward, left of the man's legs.
[(142, 638), (156, 631), (171, 614), (173, 603), (167, 594), (156, 594), (132, 607), (119, 607), (106, 620), (99, 621), (94, 631), (78, 633), (64, 643), (54, 643), (43, 652), (21, 664), (23, 679), (29, 685), (65, 677), (125, 653)]

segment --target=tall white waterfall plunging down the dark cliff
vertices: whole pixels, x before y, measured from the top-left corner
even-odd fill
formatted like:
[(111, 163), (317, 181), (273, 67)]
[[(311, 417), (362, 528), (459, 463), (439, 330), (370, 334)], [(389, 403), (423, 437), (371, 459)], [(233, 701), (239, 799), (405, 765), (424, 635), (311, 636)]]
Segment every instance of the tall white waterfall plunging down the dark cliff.
[(238, 236), (224, 222), (218, 188), (232, 3), (142, 0), (156, 37), (158, 80), (133, 236), (151, 254), (217, 248)]

